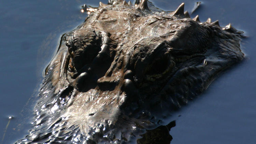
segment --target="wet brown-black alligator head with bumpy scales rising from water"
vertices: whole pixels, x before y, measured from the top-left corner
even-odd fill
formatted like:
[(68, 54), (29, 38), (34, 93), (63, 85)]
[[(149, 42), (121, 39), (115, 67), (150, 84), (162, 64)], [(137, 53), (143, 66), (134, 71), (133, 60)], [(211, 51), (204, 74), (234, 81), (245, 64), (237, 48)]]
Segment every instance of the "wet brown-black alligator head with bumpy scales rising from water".
[[(109, 0), (62, 35), (45, 69), (33, 128), (16, 144), (170, 143), (161, 119), (201, 94), (244, 57), (242, 31)], [(165, 132), (164, 132), (165, 131)], [(165, 134), (162, 134), (165, 133)]]

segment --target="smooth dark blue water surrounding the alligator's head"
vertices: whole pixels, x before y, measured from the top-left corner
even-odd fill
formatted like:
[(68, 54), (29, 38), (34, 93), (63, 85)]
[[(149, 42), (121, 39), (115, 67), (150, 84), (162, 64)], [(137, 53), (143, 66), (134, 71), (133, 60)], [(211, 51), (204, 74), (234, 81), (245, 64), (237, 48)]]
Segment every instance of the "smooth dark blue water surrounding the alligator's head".
[[(191, 12), (196, 1), (153, 1), (166, 11), (175, 10), (181, 2)], [(170, 132), (172, 144), (255, 144), (256, 2), (201, 2), (192, 16), (198, 14), (201, 21), (211, 17), (221, 26), (231, 23), (245, 31), (248, 38), (243, 39), (241, 48), (246, 58), (173, 113), (169, 119), (176, 120)], [(0, 1), (0, 144), (11, 144), (28, 134), (42, 71), (53, 57), (60, 36), (84, 21), (87, 15), (80, 12), (84, 3), (97, 7), (99, 1)], [(5, 131), (10, 115), (14, 118)]]

